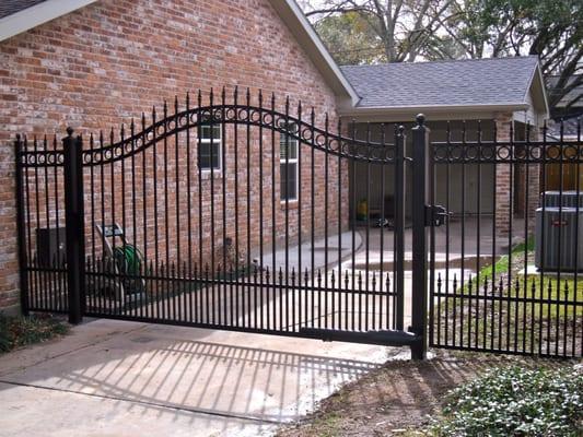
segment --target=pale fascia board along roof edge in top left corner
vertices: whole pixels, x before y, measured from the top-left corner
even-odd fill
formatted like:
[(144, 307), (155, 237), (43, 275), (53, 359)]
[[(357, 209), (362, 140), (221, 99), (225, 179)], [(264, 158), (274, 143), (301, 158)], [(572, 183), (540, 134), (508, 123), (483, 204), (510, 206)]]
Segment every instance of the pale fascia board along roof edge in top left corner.
[(58, 19), (97, 0), (47, 0), (0, 19), (0, 42)]

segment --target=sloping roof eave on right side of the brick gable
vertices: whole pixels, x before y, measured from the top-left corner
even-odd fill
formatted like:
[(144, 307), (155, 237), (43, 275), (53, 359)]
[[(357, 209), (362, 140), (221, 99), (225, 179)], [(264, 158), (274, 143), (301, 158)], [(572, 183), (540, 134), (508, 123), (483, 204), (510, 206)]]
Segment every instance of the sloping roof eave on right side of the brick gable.
[(270, 0), (270, 3), (281, 20), (288, 24), (295, 39), (306, 51), (335, 94), (348, 97), (351, 106), (355, 106), (360, 101), (359, 95), (345, 78), (295, 0)]

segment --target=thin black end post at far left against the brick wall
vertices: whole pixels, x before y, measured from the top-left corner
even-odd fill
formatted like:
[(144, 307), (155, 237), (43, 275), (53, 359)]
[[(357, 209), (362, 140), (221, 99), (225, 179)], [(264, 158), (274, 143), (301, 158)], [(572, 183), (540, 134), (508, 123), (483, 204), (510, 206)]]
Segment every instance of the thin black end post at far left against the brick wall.
[(16, 135), (14, 141), (14, 161), (16, 163), (16, 232), (19, 239), (19, 276), (21, 291), (21, 312), (23, 316), (28, 316), (28, 261), (26, 259), (26, 231), (24, 228), (24, 189), (22, 187), (22, 140), (21, 135)]

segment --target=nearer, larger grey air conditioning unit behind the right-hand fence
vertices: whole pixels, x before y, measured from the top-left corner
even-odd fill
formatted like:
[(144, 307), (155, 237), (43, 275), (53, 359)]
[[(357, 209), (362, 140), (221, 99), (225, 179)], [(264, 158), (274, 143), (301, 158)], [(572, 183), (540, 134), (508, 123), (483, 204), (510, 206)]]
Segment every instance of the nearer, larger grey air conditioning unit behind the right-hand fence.
[(583, 209), (546, 206), (536, 210), (535, 265), (538, 269), (583, 271), (583, 244), (580, 241), (583, 241)]

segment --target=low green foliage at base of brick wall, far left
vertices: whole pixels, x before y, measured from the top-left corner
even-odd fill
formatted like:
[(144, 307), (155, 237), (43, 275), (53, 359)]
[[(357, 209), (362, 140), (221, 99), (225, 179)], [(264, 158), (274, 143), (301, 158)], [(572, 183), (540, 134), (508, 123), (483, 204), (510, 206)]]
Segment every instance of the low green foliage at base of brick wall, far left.
[(49, 316), (8, 317), (0, 314), (0, 353), (66, 334), (69, 326)]

